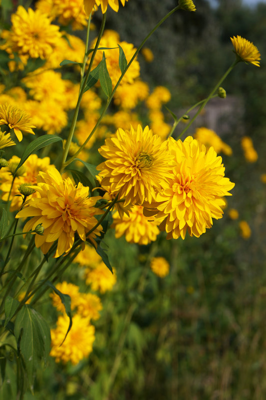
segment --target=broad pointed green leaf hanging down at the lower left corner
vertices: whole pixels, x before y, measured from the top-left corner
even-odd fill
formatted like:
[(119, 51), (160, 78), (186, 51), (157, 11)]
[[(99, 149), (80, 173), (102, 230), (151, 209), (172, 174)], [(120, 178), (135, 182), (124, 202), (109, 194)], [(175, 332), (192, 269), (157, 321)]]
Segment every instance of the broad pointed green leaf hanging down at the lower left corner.
[[(33, 393), (33, 378), (39, 360), (46, 361), (50, 352), (50, 328), (37, 311), (23, 306), (15, 319), (14, 334), (23, 356), (29, 387)], [(20, 342), (19, 342), (20, 341)]]

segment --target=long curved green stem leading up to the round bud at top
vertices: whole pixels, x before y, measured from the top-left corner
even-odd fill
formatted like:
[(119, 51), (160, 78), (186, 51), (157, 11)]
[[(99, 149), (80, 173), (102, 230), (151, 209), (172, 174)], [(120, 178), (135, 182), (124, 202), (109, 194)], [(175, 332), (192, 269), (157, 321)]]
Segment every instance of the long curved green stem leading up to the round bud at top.
[[(107, 108), (110, 105), (110, 102), (114, 96), (114, 93), (117, 89), (117, 87), (119, 86), (121, 80), (123, 79), (126, 71), (128, 70), (128, 68), (130, 67), (130, 65), (132, 64), (132, 62), (134, 61), (134, 59), (136, 58), (136, 56), (138, 55), (139, 51), (141, 50), (141, 48), (144, 46), (144, 44), (146, 43), (146, 41), (150, 38), (150, 36), (155, 32), (156, 29), (158, 29), (158, 27), (170, 16), (172, 15), (175, 11), (177, 11), (180, 8), (180, 6), (176, 6), (175, 8), (173, 8), (170, 12), (168, 12), (168, 14), (166, 14), (156, 25), (155, 27), (148, 33), (148, 35), (142, 40), (141, 44), (139, 45), (139, 47), (137, 48), (137, 50), (135, 51), (134, 55), (132, 56), (131, 60), (128, 62), (126, 68), (124, 69), (124, 71), (122, 72), (120, 78), (118, 79), (112, 93), (110, 94), (110, 97), (108, 97), (107, 102), (104, 106), (104, 109), (98, 119), (98, 121), (96, 122), (96, 125), (94, 126), (94, 128), (92, 129), (91, 133), (89, 134), (89, 136), (87, 137), (87, 139), (85, 140), (85, 142), (82, 144), (82, 146), (80, 146), (80, 148), (77, 150), (77, 152), (71, 157), (69, 158), (69, 160), (67, 160), (66, 162), (64, 162), (62, 164), (62, 169), (64, 169), (68, 164), (70, 164), (72, 161), (74, 161), (74, 159), (76, 158), (76, 156), (80, 153), (80, 151), (82, 151), (84, 149), (84, 147), (86, 146), (86, 144), (88, 143), (88, 141), (90, 140), (91, 136), (94, 134), (94, 132), (96, 131), (96, 129), (98, 128)], [(64, 159), (65, 161), (65, 159)]]

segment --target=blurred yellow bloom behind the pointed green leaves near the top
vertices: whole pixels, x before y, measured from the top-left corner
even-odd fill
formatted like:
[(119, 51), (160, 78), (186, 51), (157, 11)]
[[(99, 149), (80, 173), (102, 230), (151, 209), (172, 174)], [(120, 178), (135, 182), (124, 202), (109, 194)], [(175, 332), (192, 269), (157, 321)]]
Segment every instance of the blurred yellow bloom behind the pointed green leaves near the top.
[[(95, 43), (96, 39), (92, 43), (92, 48), (95, 46)], [(136, 48), (132, 43), (127, 43), (126, 41), (120, 41), (119, 34), (112, 30), (105, 30), (99, 43), (99, 47), (110, 47), (110, 49), (98, 50), (97, 53), (95, 54), (93, 62), (93, 68), (95, 68), (102, 60), (104, 51), (106, 57), (106, 66), (110, 78), (112, 80), (113, 87), (116, 85), (118, 79), (121, 76), (121, 70), (119, 67), (119, 48), (117, 44), (119, 44), (122, 47), (127, 62), (129, 62), (132, 56), (134, 55)], [(130, 65), (129, 69), (123, 76), (121, 84), (133, 83), (134, 79), (138, 78), (139, 75), (140, 75), (140, 65), (139, 62), (137, 61), (137, 58), (135, 58), (132, 64)]]

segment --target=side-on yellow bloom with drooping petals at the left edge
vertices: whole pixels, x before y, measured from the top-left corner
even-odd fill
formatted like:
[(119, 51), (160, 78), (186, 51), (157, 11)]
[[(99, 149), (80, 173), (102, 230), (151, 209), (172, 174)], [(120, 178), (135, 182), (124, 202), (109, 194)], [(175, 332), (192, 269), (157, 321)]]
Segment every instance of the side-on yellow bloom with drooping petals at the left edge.
[(8, 103), (0, 104), (0, 125), (3, 124), (8, 125), (10, 129), (14, 129), (19, 142), (21, 142), (23, 137), (21, 130), (35, 135), (31, 129), (35, 128), (35, 125), (31, 123), (30, 117), (15, 105)]

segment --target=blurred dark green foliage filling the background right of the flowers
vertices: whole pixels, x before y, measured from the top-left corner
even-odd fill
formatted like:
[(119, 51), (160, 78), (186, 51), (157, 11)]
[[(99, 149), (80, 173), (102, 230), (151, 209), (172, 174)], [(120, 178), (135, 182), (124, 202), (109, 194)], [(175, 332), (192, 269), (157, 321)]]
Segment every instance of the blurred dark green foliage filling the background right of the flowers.
[[(107, 28), (138, 46), (176, 3), (129, 0), (118, 13), (108, 10)], [(226, 176), (236, 183), (224, 218), (199, 239), (166, 241), (161, 234), (149, 246), (128, 244), (108, 232), (117, 284), (101, 296), (93, 353), (77, 366), (49, 360), (36, 377), (35, 396), (27, 394), (26, 400), (266, 398), (266, 184), (261, 180), (266, 173), (266, 3), (216, 4), (195, 0), (197, 12), (174, 14), (147, 42), (154, 61), (145, 63), (141, 55), (139, 60), (142, 79), (151, 87), (168, 87), (168, 106), (180, 116), (208, 95), (232, 63), (230, 36), (241, 35), (259, 48), (261, 67), (237, 65), (223, 84), (228, 99), (219, 99), (217, 106), (234, 98), (242, 109), (240, 114), (231, 109), (226, 128), (217, 131), (233, 149), (223, 160)], [(196, 121), (188, 133), (197, 126)], [(244, 135), (253, 139), (256, 163), (245, 160)], [(230, 208), (238, 210), (238, 220), (229, 217)], [(240, 220), (251, 227), (247, 239)], [(150, 254), (169, 261), (167, 277), (152, 273)], [(68, 271), (68, 282), (76, 283), (76, 270), (73, 265)], [(50, 319), (54, 322), (52, 314)]]

